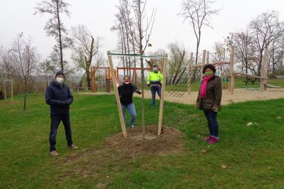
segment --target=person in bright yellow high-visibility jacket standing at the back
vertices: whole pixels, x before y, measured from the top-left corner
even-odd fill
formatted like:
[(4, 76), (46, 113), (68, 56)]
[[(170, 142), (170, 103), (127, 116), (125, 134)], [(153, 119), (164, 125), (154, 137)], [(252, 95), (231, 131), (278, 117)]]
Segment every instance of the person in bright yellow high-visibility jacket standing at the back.
[(162, 87), (162, 73), (158, 71), (158, 66), (153, 65), (153, 71), (151, 71), (147, 78), (147, 85), (150, 87), (152, 93), (152, 105), (155, 106), (155, 94), (157, 92), (158, 96), (161, 97), (161, 87)]

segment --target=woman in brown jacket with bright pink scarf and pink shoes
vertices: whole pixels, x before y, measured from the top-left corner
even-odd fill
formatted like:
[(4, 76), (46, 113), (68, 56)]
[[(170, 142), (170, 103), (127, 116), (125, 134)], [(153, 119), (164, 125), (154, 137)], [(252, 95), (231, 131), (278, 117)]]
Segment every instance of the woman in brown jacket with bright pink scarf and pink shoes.
[(219, 141), (219, 125), (217, 113), (220, 111), (222, 99), (222, 83), (220, 78), (215, 76), (215, 66), (206, 64), (203, 67), (203, 80), (200, 84), (199, 96), (196, 99), (196, 108), (203, 110), (208, 122), (209, 136), (206, 140), (210, 144)]

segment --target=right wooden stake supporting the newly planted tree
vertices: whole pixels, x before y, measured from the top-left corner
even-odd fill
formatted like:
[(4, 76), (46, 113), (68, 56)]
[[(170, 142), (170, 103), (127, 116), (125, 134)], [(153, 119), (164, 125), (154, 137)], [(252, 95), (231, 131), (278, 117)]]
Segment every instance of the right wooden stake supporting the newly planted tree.
[(158, 123), (158, 135), (162, 133), (162, 114), (164, 110), (164, 96), (165, 96), (165, 80), (167, 78), (167, 58), (163, 58), (164, 67), (162, 68), (162, 94), (160, 99), (160, 114), (159, 114), (159, 123)]

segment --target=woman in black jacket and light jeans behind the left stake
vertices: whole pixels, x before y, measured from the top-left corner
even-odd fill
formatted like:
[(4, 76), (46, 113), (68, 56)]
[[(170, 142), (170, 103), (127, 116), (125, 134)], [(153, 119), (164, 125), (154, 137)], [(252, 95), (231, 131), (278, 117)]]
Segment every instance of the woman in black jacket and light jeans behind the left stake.
[(124, 123), (125, 123), (125, 111), (128, 109), (129, 115), (131, 116), (130, 119), (130, 128), (134, 128), (134, 123), (136, 119), (136, 109), (134, 106), (133, 101), (133, 94), (134, 92), (141, 94), (141, 91), (130, 82), (130, 77), (128, 75), (124, 76), (124, 83), (119, 85), (117, 88), (119, 92), (119, 99), (122, 103), (122, 113), (124, 116)]

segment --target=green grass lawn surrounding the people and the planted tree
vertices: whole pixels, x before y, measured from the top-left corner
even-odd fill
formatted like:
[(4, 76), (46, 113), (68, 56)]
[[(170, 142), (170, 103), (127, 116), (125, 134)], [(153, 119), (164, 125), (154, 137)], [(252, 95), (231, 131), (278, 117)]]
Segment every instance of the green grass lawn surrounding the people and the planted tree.
[[(220, 142), (208, 145), (201, 111), (165, 102), (164, 124), (184, 133), (179, 154), (127, 157), (103, 149), (107, 136), (120, 132), (113, 95), (75, 94), (71, 106), (74, 144), (66, 149), (59, 126), (59, 157), (49, 156), (49, 107), (43, 94), (0, 102), (0, 188), (283, 188), (284, 99), (223, 107), (218, 114)], [(135, 99), (136, 125), (141, 99)], [(146, 101), (146, 123), (158, 123), (158, 107)], [(247, 126), (249, 122), (259, 125)], [(201, 150), (207, 150), (201, 154)], [(227, 169), (221, 169), (225, 164)]]

